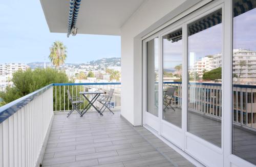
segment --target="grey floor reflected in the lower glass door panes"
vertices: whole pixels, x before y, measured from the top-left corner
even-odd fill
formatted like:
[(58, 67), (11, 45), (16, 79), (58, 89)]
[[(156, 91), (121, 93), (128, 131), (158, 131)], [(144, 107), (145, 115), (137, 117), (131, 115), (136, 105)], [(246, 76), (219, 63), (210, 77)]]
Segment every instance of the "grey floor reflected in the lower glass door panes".
[[(181, 127), (181, 108), (175, 107), (163, 113), (164, 119)], [(215, 119), (203, 117), (195, 112), (188, 112), (189, 132), (193, 133), (212, 144), (221, 147), (221, 122)], [(241, 129), (238, 126), (233, 128), (233, 154), (242, 157), (249, 162), (256, 163), (256, 133)]]

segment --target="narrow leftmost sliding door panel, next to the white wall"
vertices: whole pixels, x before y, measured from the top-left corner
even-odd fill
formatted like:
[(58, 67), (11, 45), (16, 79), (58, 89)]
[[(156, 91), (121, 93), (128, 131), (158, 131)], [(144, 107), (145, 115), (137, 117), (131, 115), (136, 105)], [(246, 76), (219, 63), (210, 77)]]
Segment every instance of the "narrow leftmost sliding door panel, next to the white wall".
[(160, 130), (159, 125), (159, 37), (143, 41), (143, 124)]

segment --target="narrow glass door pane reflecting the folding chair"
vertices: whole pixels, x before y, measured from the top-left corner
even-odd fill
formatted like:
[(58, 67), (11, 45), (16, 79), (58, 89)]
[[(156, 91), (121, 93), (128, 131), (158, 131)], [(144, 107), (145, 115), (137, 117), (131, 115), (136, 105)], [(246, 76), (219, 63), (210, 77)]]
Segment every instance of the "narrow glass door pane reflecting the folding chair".
[(163, 36), (163, 120), (181, 128), (182, 29)]

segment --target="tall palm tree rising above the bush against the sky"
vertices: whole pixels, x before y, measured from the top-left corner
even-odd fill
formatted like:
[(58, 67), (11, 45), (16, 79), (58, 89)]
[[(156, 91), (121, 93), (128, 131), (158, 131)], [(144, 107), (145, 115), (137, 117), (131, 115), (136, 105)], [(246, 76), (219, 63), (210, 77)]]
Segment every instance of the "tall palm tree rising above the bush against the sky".
[(50, 47), (49, 59), (52, 64), (59, 70), (59, 66), (65, 63), (67, 58), (67, 47), (60, 41), (55, 41)]

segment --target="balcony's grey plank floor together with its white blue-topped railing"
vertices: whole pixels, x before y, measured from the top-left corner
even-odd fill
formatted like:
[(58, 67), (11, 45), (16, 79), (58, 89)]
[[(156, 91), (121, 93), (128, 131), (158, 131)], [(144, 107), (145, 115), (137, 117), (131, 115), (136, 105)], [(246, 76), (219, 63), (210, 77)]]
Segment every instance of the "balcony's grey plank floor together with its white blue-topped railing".
[[(80, 117), (67, 94), (115, 89), (114, 115)], [(51, 84), (0, 108), (2, 166), (194, 166), (141, 126), (120, 117), (120, 82)], [(98, 105), (98, 104), (96, 104)]]

